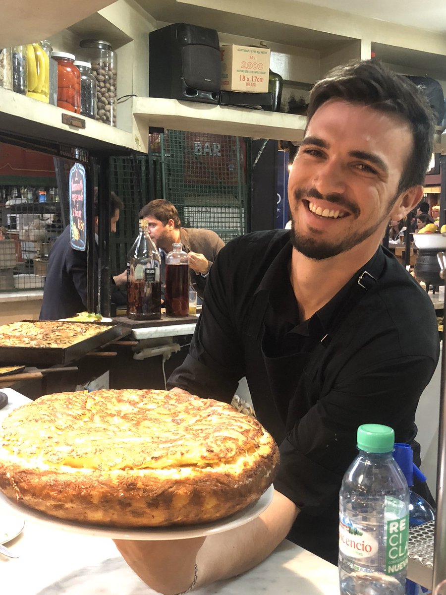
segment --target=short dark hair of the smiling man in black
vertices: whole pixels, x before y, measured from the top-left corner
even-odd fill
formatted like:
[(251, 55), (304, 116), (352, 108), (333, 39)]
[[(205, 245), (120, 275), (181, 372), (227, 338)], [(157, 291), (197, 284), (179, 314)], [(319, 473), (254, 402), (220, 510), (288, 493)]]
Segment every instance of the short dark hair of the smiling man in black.
[(337, 66), (310, 92), (307, 126), (315, 112), (329, 99), (395, 114), (409, 122), (413, 133), (412, 155), (398, 184), (403, 192), (423, 184), (434, 148), (435, 118), (421, 87), (396, 74), (375, 58)]

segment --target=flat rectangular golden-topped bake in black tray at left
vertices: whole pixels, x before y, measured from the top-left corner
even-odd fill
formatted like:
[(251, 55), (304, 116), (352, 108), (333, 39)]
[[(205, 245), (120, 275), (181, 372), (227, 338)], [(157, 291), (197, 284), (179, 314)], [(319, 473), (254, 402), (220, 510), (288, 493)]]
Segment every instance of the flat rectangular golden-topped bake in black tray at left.
[(109, 328), (103, 324), (22, 320), (0, 326), (0, 347), (70, 347)]

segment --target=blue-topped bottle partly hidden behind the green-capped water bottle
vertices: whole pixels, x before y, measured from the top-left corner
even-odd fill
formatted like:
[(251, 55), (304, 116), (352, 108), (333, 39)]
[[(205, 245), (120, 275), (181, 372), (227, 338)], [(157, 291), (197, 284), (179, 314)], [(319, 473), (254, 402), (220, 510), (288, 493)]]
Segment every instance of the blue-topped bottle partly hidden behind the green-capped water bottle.
[[(434, 521), (435, 512), (432, 506), (412, 490), (414, 475), (421, 482), (426, 481), (426, 476), (413, 464), (412, 447), (410, 444), (403, 443), (395, 443), (394, 447), (394, 459), (400, 466), (401, 471), (403, 471), (409, 486), (409, 527), (417, 527), (425, 522)], [(407, 579), (406, 595), (422, 595), (423, 593), (432, 593), (432, 591), (410, 581), (409, 578)]]

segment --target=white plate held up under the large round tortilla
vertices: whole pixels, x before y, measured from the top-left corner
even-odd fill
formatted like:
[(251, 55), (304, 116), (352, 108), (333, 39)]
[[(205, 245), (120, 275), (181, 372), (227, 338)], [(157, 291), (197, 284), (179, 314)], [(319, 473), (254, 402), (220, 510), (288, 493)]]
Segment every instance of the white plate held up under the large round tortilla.
[[(10, 508), (29, 517), (33, 521), (46, 524), (49, 527), (72, 533), (81, 533), (93, 537), (109, 537), (111, 539), (134, 539), (143, 541), (164, 541), (171, 539), (187, 539), (190, 537), (203, 537), (215, 533), (222, 533), (240, 527), (259, 516), (271, 504), (274, 487), (269, 486), (268, 490), (260, 496), (257, 502), (250, 504), (243, 511), (235, 512), (220, 521), (203, 523), (200, 525), (189, 525), (187, 527), (141, 527), (121, 529), (116, 527), (99, 527), (98, 525), (87, 525), (73, 521), (64, 521), (55, 516), (46, 515), (44, 512), (35, 511), (20, 503), (11, 502), (0, 493), (1, 502), (6, 503)], [(0, 525), (1, 527), (1, 525)], [(22, 526), (23, 528), (23, 526)], [(20, 533), (20, 531), (19, 531)], [(1, 536), (0, 536), (1, 537)]]

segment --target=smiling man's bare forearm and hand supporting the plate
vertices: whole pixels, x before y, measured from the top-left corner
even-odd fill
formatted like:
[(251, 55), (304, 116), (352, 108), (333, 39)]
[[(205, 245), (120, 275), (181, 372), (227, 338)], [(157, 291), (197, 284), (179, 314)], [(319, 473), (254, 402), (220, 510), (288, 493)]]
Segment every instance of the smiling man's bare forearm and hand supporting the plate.
[(234, 577), (262, 562), (287, 536), (297, 508), (275, 492), (271, 505), (242, 527), (202, 538), (178, 541), (115, 541), (128, 565), (149, 587), (165, 595)]

